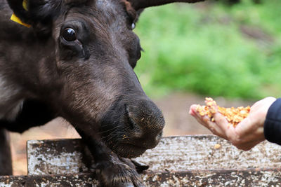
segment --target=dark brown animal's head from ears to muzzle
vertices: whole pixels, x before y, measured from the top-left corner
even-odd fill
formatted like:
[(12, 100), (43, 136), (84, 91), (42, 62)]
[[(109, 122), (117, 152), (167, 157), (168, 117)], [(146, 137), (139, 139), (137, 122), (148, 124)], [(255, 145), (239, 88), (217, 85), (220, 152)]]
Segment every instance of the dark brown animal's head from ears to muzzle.
[(42, 62), (39, 77), (56, 85), (46, 90), (57, 90), (50, 102), (59, 115), (81, 134), (100, 135), (112, 151), (132, 158), (155, 147), (164, 127), (162, 112), (145, 95), (133, 71), (141, 57), (133, 28), (143, 8), (171, 2), (27, 0), (24, 7), (22, 0), (9, 0), (8, 4), (32, 26), (38, 40), (48, 41), (48, 51), (51, 48), (54, 54), (52, 62)]

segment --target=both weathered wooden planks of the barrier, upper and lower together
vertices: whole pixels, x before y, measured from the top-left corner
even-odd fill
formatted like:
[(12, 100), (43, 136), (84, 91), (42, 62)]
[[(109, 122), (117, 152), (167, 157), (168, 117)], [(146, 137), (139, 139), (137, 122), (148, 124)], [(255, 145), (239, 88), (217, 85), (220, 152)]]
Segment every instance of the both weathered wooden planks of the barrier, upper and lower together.
[[(22, 180), (35, 177), (43, 186), (46, 179), (57, 181), (53, 186), (63, 186), (58, 179), (67, 182), (83, 176), (73, 186), (96, 186), (83, 153), (80, 139), (28, 141), (29, 176)], [(281, 146), (267, 141), (251, 151), (240, 151), (211, 135), (165, 137), (135, 160), (150, 165), (141, 175), (146, 186), (281, 186)], [(0, 178), (0, 186), (4, 183)]]

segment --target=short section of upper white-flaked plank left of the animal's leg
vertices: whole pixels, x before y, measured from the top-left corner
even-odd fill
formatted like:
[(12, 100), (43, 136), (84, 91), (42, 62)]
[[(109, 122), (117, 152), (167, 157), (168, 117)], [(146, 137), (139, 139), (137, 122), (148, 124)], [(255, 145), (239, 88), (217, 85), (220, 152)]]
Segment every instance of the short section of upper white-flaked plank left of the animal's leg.
[(81, 139), (27, 141), (27, 174), (77, 174), (89, 172), (82, 162)]

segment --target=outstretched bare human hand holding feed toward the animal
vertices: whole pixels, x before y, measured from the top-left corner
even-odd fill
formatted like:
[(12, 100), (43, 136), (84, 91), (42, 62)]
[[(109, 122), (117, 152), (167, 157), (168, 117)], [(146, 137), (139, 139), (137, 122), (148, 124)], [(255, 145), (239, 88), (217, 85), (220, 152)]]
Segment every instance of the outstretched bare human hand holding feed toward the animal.
[(256, 146), (256, 144), (265, 140), (263, 124), (266, 120), (268, 109), (275, 100), (274, 97), (266, 97), (256, 102), (251, 106), (249, 116), (238, 123), (236, 127), (229, 125), (226, 118), (221, 113), (218, 113), (218, 111), (214, 114), (214, 122), (211, 122), (208, 116), (200, 116), (196, 110), (197, 104), (190, 106), (189, 113), (200, 124), (211, 130), (213, 134), (227, 139), (237, 148), (248, 151)]

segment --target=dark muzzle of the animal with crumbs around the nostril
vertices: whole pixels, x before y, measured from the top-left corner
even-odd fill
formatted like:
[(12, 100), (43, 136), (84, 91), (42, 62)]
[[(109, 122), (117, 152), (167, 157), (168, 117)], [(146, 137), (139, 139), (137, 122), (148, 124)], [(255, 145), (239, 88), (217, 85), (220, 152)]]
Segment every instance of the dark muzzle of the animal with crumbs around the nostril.
[(157, 146), (164, 124), (162, 112), (147, 97), (121, 99), (104, 116), (100, 132), (117, 155), (133, 158)]

